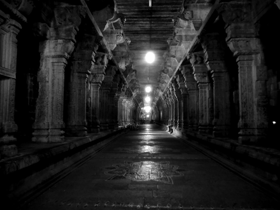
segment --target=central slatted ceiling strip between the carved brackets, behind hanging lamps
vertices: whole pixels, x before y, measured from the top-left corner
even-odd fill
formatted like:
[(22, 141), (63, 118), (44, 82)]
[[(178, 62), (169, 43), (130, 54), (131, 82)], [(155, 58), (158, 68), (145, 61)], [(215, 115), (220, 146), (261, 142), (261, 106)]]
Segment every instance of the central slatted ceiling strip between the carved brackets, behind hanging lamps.
[[(182, 0), (153, 0), (152, 7), (149, 7), (148, 0), (115, 0), (115, 2), (118, 12), (123, 13), (126, 18), (124, 33), (131, 41), (129, 49), (132, 52), (134, 69), (137, 70), (142, 98), (146, 96), (145, 87), (148, 84), (152, 87), (149, 95), (153, 98), (153, 91), (158, 84), (157, 78), (163, 68), (163, 54), (168, 48), (167, 39), (174, 33), (173, 19), (180, 12)], [(152, 64), (145, 61), (148, 51), (155, 54), (155, 61)]]

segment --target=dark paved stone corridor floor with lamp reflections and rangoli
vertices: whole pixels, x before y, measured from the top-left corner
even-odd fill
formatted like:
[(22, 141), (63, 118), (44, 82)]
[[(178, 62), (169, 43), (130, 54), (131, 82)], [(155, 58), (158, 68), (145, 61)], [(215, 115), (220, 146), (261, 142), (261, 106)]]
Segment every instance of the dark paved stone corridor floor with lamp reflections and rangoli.
[(22, 209), (279, 209), (279, 201), (155, 124), (111, 143)]

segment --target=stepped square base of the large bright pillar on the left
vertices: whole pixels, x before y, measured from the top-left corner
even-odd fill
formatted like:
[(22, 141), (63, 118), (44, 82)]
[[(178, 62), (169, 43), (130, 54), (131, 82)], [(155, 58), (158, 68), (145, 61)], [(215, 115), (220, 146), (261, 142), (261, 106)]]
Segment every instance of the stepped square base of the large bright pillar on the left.
[(64, 136), (62, 136), (64, 133), (61, 129), (35, 129), (32, 133), (31, 141), (38, 143), (62, 143), (64, 142)]

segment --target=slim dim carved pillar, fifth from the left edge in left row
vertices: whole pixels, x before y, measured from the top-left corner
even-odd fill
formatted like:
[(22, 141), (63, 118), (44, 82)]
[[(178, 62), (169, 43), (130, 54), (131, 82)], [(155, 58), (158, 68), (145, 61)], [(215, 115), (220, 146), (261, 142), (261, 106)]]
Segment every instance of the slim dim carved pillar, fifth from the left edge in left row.
[[(109, 93), (113, 78), (115, 76), (117, 67), (108, 66), (105, 69), (104, 81), (102, 82), (100, 92), (101, 92), (101, 109), (100, 109), (100, 129), (108, 130), (109, 123)], [(111, 107), (112, 108), (112, 107)]]

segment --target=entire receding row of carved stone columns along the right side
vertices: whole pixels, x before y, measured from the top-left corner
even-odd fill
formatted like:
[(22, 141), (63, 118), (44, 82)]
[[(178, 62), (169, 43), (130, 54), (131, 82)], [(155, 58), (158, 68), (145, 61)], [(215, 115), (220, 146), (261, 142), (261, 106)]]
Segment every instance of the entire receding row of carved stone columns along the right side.
[[(265, 139), (267, 120), (267, 68), (249, 13), (250, 3), (221, 3), (227, 37), (212, 32), (200, 37), (202, 51), (189, 53), (162, 94), (166, 125), (225, 137), (232, 125), (231, 82), (227, 50), (238, 65), (239, 143)], [(239, 15), (232, 15), (238, 13)], [(239, 18), (235, 18), (239, 17)], [(241, 30), (242, 29), (242, 30)], [(185, 62), (186, 63), (186, 62)]]

